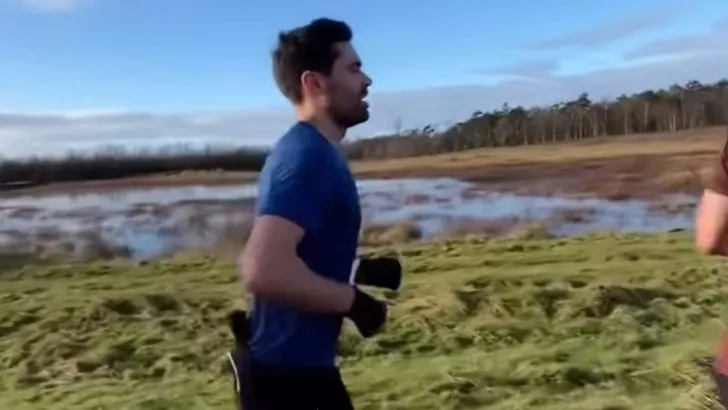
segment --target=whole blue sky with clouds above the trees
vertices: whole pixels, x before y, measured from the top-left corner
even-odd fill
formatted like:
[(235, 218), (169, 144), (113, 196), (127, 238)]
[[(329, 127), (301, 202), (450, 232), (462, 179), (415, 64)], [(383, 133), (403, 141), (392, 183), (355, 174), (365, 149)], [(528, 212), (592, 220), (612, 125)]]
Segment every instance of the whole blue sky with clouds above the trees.
[(374, 81), (347, 138), (728, 77), (725, 0), (0, 0), (0, 157), (270, 145), (277, 33), (318, 17)]

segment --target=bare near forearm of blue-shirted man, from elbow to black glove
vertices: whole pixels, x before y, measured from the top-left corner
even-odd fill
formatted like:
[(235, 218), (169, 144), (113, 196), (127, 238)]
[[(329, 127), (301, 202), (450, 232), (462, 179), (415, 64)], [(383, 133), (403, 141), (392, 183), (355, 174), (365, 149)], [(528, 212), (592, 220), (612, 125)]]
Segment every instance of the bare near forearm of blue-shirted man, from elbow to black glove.
[(299, 258), (276, 265), (247, 275), (248, 290), (311, 312), (344, 314), (351, 307), (354, 289), (350, 285), (315, 274)]

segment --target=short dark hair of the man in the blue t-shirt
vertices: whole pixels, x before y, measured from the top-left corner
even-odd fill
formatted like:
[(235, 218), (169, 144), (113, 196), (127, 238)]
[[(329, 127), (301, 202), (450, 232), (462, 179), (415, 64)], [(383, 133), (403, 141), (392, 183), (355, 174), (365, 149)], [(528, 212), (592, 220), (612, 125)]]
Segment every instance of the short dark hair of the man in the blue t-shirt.
[(278, 34), (273, 50), (273, 73), (283, 95), (294, 104), (303, 99), (301, 74), (316, 71), (330, 75), (339, 57), (334, 45), (350, 42), (352, 32), (343, 21), (320, 18)]

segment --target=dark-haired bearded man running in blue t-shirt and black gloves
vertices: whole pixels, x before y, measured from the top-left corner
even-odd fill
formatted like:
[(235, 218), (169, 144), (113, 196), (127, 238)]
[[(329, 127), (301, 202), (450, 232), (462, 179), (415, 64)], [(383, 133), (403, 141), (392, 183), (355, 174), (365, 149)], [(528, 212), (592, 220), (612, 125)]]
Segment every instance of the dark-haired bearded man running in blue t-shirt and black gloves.
[[(388, 287), (399, 285), (396, 260), (356, 259), (359, 194), (339, 143), (369, 119), (372, 81), (351, 41), (346, 23), (318, 19), (280, 33), (273, 51), (276, 82), (298, 122), (261, 171), (257, 216), (239, 259), (254, 304), (229, 358), (246, 410), (353, 409), (335, 363), (343, 319), (370, 337), (387, 308), (352, 284), (362, 284), (352, 270), (376, 265), (381, 276), (396, 276), (384, 280), (395, 283)], [(377, 282), (371, 271), (360, 276)]]

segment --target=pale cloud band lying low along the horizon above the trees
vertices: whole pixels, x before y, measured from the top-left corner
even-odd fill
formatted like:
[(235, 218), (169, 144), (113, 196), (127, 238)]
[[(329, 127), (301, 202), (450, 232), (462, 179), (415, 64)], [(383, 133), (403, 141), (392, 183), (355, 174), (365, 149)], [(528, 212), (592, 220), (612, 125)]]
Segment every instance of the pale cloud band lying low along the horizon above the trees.
[[(728, 50), (682, 59), (584, 75), (549, 75), (538, 63), (538, 80), (512, 80), (492, 86), (463, 85), (397, 93), (372, 93), (371, 119), (350, 131), (367, 136), (402, 125), (452, 123), (475, 110), (511, 105), (547, 105), (588, 92), (593, 99), (616, 97), (647, 88), (691, 80), (716, 81), (725, 75)], [(109, 144), (159, 146), (170, 142), (267, 145), (293, 121), (289, 108), (240, 112), (154, 114), (144, 112), (74, 112), (71, 114), (0, 113), (0, 152), (4, 156), (52, 155)]]

